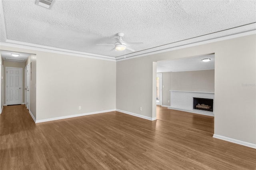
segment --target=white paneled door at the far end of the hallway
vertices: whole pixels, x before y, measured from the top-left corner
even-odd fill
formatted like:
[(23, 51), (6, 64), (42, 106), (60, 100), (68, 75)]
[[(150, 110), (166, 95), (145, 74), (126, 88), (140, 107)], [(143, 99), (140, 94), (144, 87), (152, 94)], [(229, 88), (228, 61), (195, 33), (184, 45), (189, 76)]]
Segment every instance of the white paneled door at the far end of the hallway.
[(6, 104), (21, 104), (22, 68), (6, 67)]

